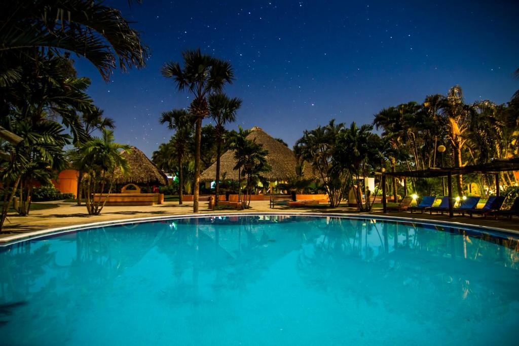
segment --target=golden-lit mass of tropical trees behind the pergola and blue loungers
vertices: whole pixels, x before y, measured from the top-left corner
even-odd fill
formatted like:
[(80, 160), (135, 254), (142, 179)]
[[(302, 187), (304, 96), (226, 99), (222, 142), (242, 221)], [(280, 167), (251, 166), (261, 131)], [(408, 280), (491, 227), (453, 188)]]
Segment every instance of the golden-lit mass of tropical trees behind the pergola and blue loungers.
[[(450, 88), (446, 95), (435, 94), (418, 104), (409, 102), (381, 110), (374, 125), (393, 149), (390, 169), (424, 170), (429, 167), (463, 167), (467, 164), (489, 162), (492, 158), (517, 157), (519, 107), (513, 100), (496, 105), (489, 100), (466, 103), (460, 86)], [(443, 145), (446, 151), (440, 154)], [(502, 186), (517, 183), (513, 174), (501, 174)], [(480, 191), (491, 185), (485, 176), (470, 177)], [(432, 179), (430, 184), (438, 183)], [(411, 179), (413, 187), (419, 187)], [(393, 181), (393, 193), (398, 184)], [(458, 194), (466, 195), (461, 175), (456, 178)], [(436, 188), (436, 190), (440, 190)]]

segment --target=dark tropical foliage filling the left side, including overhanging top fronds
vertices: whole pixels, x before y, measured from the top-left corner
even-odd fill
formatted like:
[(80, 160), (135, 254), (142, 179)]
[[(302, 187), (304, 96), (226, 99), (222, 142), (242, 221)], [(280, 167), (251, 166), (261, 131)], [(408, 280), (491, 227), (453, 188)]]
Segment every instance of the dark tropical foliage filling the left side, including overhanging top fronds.
[[(28, 214), (34, 184), (50, 184), (69, 166), (65, 145), (85, 153), (94, 131), (114, 126), (87, 94), (90, 80), (77, 76), (71, 53), (89, 60), (108, 81), (116, 68), (143, 67), (148, 49), (120, 11), (100, 0), (2, 4), (0, 130), (6, 141), (0, 143), (0, 228), (15, 196), (18, 212)], [(73, 154), (77, 161), (79, 153)]]

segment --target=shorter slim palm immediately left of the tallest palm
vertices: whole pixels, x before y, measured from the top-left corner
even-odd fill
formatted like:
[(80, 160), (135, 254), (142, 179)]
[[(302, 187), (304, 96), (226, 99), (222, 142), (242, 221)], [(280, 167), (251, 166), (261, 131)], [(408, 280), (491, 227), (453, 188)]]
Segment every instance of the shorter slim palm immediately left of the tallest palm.
[(184, 158), (189, 153), (193, 122), (189, 113), (187, 113), (185, 109), (173, 109), (162, 113), (160, 123), (168, 123), (168, 128), (176, 131), (175, 135), (172, 137), (172, 149), (176, 152), (176, 159), (178, 160), (179, 204), (182, 204), (182, 189), (184, 187), (183, 162)]

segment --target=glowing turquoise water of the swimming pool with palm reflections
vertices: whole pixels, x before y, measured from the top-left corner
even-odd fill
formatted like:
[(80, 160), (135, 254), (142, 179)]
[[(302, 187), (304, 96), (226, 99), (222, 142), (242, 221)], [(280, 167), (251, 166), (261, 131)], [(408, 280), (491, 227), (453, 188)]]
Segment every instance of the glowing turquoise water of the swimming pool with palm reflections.
[(220, 216), (0, 247), (0, 343), (517, 344), (517, 238)]

